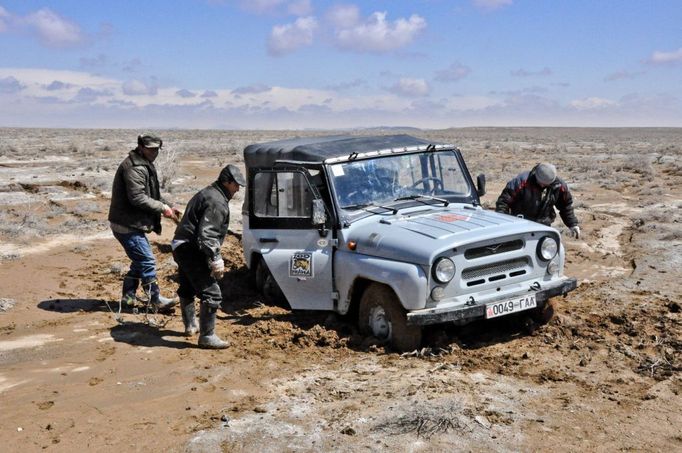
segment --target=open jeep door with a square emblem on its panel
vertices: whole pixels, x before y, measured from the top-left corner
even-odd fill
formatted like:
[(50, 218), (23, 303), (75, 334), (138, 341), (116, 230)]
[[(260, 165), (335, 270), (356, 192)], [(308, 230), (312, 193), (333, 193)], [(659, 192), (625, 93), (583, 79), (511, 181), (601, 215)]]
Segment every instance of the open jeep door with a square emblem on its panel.
[[(320, 178), (319, 170), (311, 170)], [(249, 172), (249, 229), (293, 309), (334, 308), (330, 217), (314, 224), (313, 200), (320, 200), (302, 167)]]

